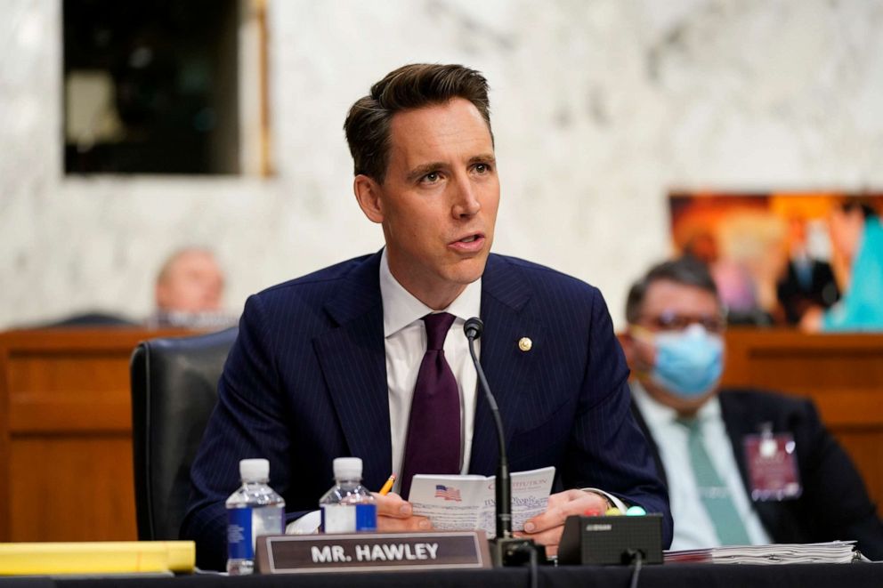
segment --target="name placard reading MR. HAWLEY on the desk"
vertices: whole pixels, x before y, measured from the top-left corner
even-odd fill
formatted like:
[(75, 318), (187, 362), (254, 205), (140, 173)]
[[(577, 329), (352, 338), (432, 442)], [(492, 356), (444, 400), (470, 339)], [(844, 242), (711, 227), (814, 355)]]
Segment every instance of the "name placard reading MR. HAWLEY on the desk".
[(261, 536), (260, 574), (490, 568), (484, 531)]

